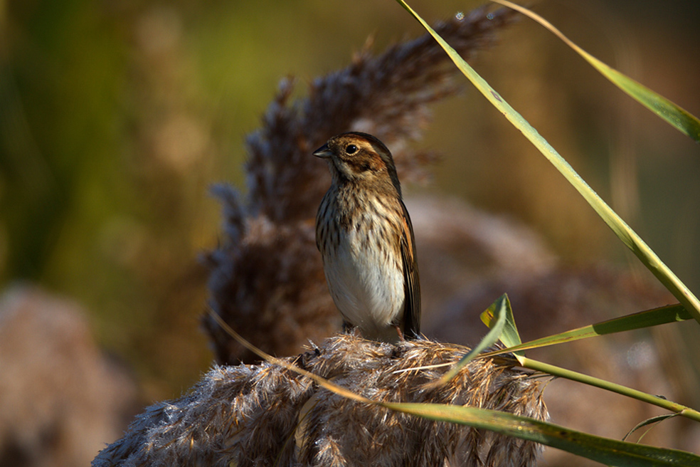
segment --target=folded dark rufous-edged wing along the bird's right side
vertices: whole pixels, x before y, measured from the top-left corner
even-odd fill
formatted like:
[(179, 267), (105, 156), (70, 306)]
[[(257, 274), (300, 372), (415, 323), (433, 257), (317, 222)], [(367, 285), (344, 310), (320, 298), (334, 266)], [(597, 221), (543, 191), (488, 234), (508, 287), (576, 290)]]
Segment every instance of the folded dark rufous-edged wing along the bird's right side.
[(401, 259), (403, 260), (403, 335), (406, 339), (420, 337), (420, 281), (418, 280), (418, 261), (415, 255), (415, 239), (413, 238), (413, 226), (408, 217), (406, 206), (401, 202), (403, 209), (403, 224), (401, 235)]

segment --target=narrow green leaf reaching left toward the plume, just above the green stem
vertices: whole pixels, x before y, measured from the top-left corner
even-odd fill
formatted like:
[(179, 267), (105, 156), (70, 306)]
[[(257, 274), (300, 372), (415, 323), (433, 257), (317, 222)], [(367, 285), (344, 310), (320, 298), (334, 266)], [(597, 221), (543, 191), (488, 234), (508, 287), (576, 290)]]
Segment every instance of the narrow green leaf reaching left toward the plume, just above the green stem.
[[(664, 325), (669, 322), (684, 321), (691, 319), (690, 313), (683, 308), (683, 305), (667, 305), (653, 310), (640, 311), (631, 315), (613, 318), (612, 320), (598, 322), (594, 325), (579, 327), (578, 329), (560, 332), (555, 335), (541, 337), (540, 339), (524, 342), (523, 344), (507, 347), (506, 349), (494, 350), (487, 352), (481, 357), (491, 357), (516, 350), (528, 350), (538, 347), (546, 347), (548, 345), (563, 344), (564, 342), (573, 342), (575, 340), (587, 339), (606, 334), (614, 334), (616, 332), (625, 332), (645, 327)], [(489, 323), (487, 323), (489, 325)]]

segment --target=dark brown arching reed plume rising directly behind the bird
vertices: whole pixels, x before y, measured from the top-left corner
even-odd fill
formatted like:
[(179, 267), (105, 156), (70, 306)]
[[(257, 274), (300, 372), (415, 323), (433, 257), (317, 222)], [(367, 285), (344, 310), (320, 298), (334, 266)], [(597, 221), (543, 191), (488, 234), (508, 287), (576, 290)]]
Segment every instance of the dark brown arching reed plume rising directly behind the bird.
[[(492, 43), (512, 21), (509, 10), (478, 9), (435, 26), (462, 56)], [(307, 339), (339, 330), (314, 241), (314, 215), (329, 185), (326, 164), (311, 152), (339, 132), (361, 130), (387, 143), (402, 180), (423, 177), (430, 154), (410, 150), (428, 121), (429, 103), (457, 91), (459, 73), (428, 36), (379, 56), (361, 51), (344, 70), (314, 80), (309, 95), (290, 105), (293, 82), (280, 90), (248, 137), (248, 196), (228, 186), (214, 193), (225, 216), (221, 246), (208, 254), (211, 307), (248, 340), (272, 355), (295, 355)], [(211, 318), (203, 324), (218, 362), (258, 360)]]

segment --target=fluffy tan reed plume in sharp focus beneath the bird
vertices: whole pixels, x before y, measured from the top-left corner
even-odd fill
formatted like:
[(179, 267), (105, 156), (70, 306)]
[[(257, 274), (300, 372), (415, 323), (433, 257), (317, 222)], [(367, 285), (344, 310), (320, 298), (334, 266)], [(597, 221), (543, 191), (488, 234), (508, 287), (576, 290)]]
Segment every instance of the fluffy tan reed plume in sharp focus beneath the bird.
[[(468, 349), (341, 335), (286, 361), (383, 402), (465, 404), (546, 419), (540, 379), (494, 357), (426, 384)], [(150, 406), (93, 467), (532, 466), (538, 445), (355, 402), (275, 364), (214, 367), (181, 399)]]

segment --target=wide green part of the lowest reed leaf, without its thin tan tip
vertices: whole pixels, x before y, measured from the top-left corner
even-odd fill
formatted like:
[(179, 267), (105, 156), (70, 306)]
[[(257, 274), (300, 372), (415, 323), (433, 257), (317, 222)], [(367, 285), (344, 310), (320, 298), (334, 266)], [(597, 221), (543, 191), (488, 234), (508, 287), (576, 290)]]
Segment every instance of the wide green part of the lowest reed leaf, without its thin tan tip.
[(441, 404), (381, 405), (427, 419), (465, 424), (535, 441), (608, 465), (619, 467), (700, 466), (700, 456), (692, 453), (602, 438), (501, 411)]

